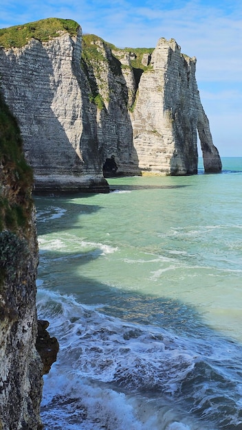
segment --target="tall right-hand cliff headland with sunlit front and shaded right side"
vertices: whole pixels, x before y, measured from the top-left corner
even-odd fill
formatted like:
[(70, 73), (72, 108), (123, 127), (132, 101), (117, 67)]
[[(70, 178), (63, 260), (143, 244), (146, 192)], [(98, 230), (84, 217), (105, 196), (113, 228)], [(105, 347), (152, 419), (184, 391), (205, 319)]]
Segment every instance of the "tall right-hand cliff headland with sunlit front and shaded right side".
[[(140, 79), (133, 111), (133, 142), (142, 170), (163, 174), (197, 173), (197, 128), (209, 124), (203, 113), (195, 79), (196, 59), (184, 56), (172, 39), (161, 38), (152, 68)], [(214, 171), (221, 161), (212, 137), (199, 133), (201, 146), (215, 152)], [(206, 149), (205, 149), (206, 148)]]

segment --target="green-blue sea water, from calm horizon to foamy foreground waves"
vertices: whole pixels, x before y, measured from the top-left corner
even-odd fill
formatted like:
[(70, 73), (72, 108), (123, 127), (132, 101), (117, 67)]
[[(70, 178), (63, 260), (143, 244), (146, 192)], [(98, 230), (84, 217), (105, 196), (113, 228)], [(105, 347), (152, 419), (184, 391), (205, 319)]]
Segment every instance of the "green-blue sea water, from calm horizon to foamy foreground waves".
[(56, 430), (242, 429), (242, 159), (36, 197)]

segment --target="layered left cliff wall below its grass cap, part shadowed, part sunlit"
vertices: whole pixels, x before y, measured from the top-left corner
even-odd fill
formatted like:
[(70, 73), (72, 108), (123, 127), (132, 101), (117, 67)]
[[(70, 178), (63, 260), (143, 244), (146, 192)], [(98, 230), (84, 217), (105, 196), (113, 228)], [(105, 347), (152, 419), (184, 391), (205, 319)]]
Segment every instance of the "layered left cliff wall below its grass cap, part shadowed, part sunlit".
[(76, 37), (0, 49), (3, 93), (19, 120), (36, 189), (107, 188), (80, 55), (80, 29)]

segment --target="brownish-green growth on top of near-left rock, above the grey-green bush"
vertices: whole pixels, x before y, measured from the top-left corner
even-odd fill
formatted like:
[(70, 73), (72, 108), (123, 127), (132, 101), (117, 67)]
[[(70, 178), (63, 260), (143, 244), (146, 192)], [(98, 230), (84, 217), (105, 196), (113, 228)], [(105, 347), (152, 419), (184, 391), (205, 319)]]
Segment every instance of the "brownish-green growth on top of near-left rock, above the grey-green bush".
[(32, 183), (19, 125), (0, 93), (0, 231), (17, 232), (27, 223), (32, 210)]

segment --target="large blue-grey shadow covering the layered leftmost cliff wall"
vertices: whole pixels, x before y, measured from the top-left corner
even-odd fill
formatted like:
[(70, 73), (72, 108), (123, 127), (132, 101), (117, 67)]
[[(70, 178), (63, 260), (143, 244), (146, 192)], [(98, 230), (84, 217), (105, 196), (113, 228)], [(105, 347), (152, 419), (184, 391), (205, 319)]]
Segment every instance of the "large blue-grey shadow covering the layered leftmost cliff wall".
[[(19, 120), (26, 160), (34, 168), (35, 176), (43, 178), (41, 182), (36, 181), (36, 190), (46, 188), (46, 185), (47, 189), (52, 189), (52, 185), (55, 189), (54, 182), (58, 181), (55, 179), (55, 175), (65, 175), (66, 182), (68, 182), (69, 176), (81, 177), (85, 167), (84, 163), (78, 157), (65, 132), (65, 126), (69, 128), (75, 126), (75, 119), (71, 117), (71, 112), (67, 111), (68, 106), (61, 102), (63, 98), (66, 100), (68, 88), (64, 90), (66, 93), (63, 93), (63, 82), (56, 80), (54, 60), (51, 57), (55, 53), (50, 52), (49, 57), (41, 42), (34, 41), (29, 49), (23, 49), (19, 58), (14, 57), (14, 53), (12, 53), (14, 58), (11, 57), (11, 73), (6, 73), (10, 67), (9, 56), (3, 49), (0, 50), (0, 54), (0, 71), (3, 68), (3, 92), (8, 93), (9, 88), (12, 88), (11, 95), (6, 99), (10, 109)], [(32, 56), (34, 56), (34, 61)], [(26, 78), (26, 74), (28, 74), (28, 78)], [(12, 82), (12, 76), (17, 76), (17, 82)], [(69, 84), (69, 82), (67, 83)], [(21, 91), (20, 106), (19, 93)], [(85, 113), (83, 115), (85, 115), (83, 130), (89, 133), (83, 144), (88, 144), (90, 147), (82, 149), (83, 152), (91, 151), (88, 169), (96, 170), (98, 174), (101, 174), (102, 166), (98, 162), (96, 140), (93, 137), (87, 115)], [(80, 131), (75, 131), (76, 136), (80, 135), (81, 131), (80, 126)], [(47, 178), (47, 175), (52, 177), (51, 180)]]

